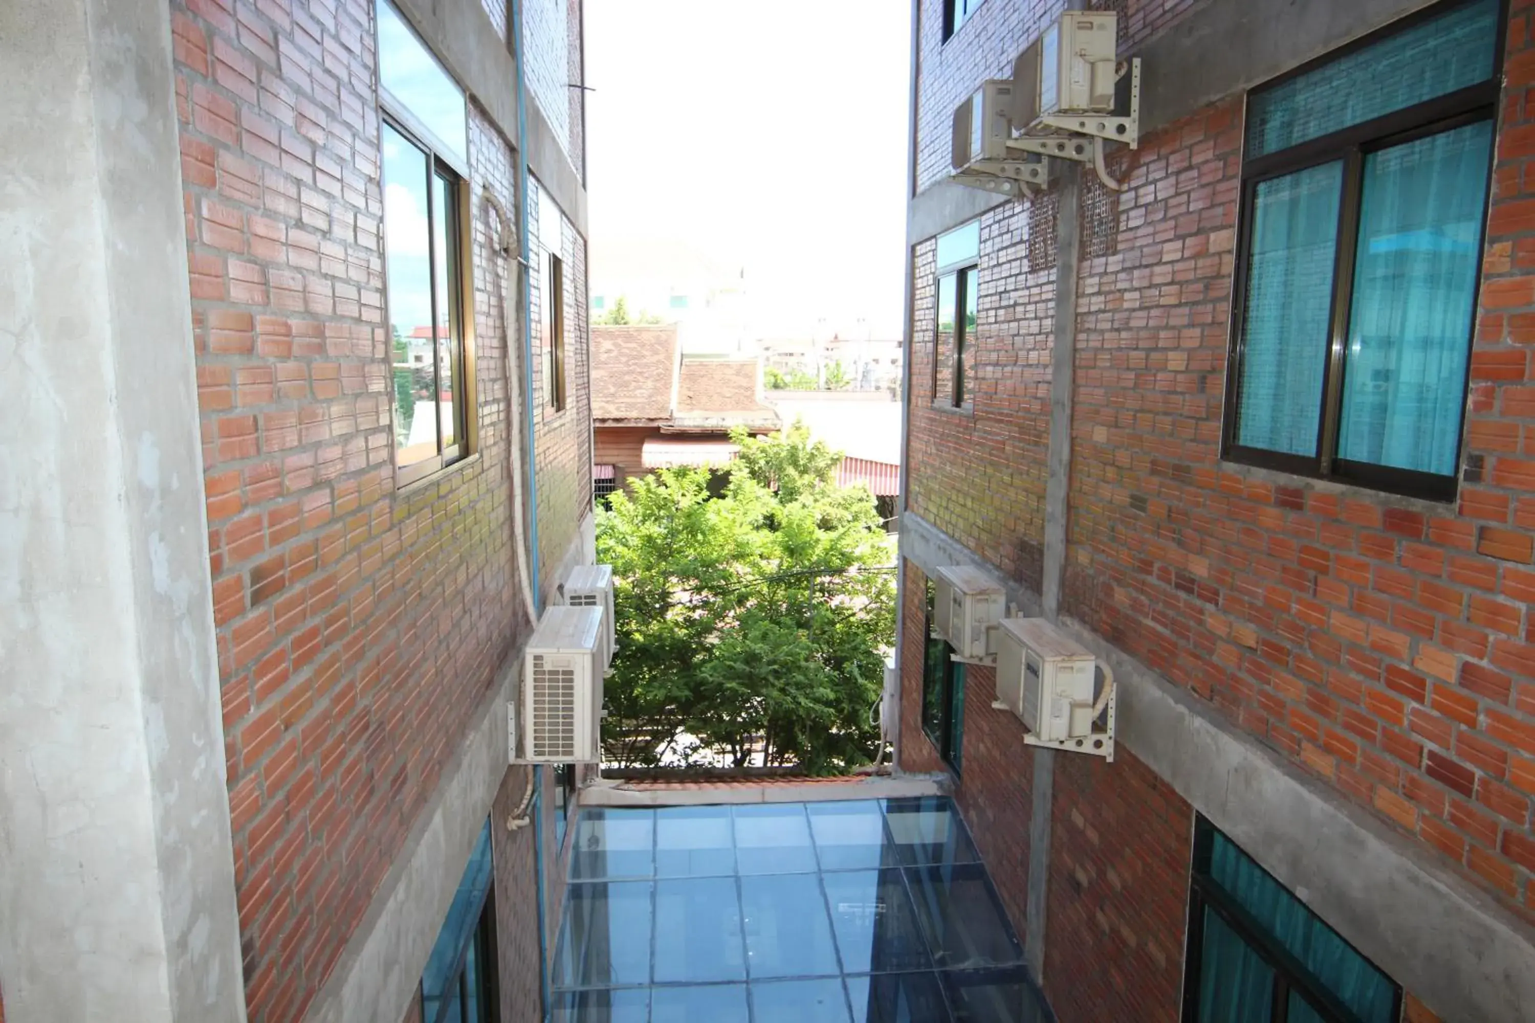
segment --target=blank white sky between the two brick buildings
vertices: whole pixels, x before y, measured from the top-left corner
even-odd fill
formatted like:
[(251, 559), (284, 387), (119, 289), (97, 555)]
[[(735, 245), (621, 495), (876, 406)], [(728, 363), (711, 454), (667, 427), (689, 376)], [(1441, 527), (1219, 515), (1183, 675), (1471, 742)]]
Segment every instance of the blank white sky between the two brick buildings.
[(760, 330), (901, 336), (906, 0), (588, 0), (593, 278), (646, 239), (744, 267)]

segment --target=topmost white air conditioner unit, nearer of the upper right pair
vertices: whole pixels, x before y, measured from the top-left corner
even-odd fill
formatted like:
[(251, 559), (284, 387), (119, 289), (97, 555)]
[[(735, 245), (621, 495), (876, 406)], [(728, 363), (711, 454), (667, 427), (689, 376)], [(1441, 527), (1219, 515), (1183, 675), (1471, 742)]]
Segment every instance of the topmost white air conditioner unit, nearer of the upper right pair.
[(1058, 113), (1113, 113), (1119, 15), (1065, 11), (1013, 61), (1012, 129)]

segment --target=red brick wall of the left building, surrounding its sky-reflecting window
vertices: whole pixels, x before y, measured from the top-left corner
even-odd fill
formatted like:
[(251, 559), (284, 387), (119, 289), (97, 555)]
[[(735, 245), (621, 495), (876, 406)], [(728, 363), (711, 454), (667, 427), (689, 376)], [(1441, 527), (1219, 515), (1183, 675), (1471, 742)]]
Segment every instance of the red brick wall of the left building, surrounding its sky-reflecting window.
[[(502, 268), (476, 202), (480, 454), (396, 489), (373, 5), (172, 12), (246, 986), (252, 1020), (292, 1020), (527, 633)], [(477, 109), (470, 163), (474, 195), (511, 206), (510, 149)], [(540, 451), (551, 514), (576, 506), (577, 457)], [(577, 518), (554, 517), (546, 549)]]

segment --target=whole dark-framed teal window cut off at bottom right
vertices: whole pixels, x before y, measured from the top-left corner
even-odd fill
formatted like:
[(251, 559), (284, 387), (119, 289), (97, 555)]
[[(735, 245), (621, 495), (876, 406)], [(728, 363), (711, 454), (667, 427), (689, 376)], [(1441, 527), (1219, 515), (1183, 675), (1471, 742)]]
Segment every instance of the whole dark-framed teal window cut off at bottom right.
[(1194, 824), (1183, 1023), (1395, 1023), (1401, 985), (1210, 821)]

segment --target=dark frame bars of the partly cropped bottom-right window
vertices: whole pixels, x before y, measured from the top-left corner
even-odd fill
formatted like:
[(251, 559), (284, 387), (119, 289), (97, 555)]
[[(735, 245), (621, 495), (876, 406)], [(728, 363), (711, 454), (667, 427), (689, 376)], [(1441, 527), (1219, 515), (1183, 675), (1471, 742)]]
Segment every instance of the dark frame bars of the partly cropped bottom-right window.
[[(1286, 1018), (1288, 998), (1291, 991), (1299, 991), (1303, 995), (1306, 1005), (1317, 1012), (1326, 1023), (1362, 1023), (1360, 1017), (1343, 1005), (1337, 995), (1326, 989), (1320, 980), (1312, 977), (1311, 971), (1297, 960), (1289, 949), (1279, 945), (1269, 937), (1265, 926), (1253, 917), (1236, 899), (1233, 899), (1226, 891), (1216, 882), (1210, 874), (1210, 859), (1211, 850), (1214, 847), (1216, 834), (1219, 828), (1205, 817), (1202, 813), (1194, 814), (1194, 842), (1188, 865), (1188, 934), (1183, 945), (1183, 1009), (1179, 1014), (1182, 1023), (1200, 1023), (1199, 1021), (1199, 986), (1200, 986), (1200, 960), (1203, 957), (1205, 948), (1205, 910), (1210, 910), (1220, 920), (1231, 928), (1231, 931), (1254, 952), (1263, 963), (1274, 971), (1274, 1002), (1269, 1009), (1271, 1023), (1283, 1023)], [(1226, 842), (1231, 842), (1234, 848), (1242, 851), (1248, 859), (1253, 859), (1240, 845), (1237, 845), (1230, 834), (1220, 833)], [(1253, 860), (1257, 863), (1257, 860)], [(1263, 870), (1262, 863), (1257, 863), (1259, 870)], [(1266, 871), (1265, 871), (1266, 873)], [(1273, 874), (1269, 874), (1273, 877)], [(1274, 879), (1280, 883), (1279, 879)], [(1285, 885), (1280, 883), (1280, 888)], [(1285, 888), (1297, 902), (1300, 897), (1296, 896), (1289, 888)], [(1305, 905), (1302, 902), (1302, 905)], [(1309, 910), (1309, 906), (1306, 906)], [(1311, 910), (1311, 913), (1337, 934), (1320, 913)], [(1339, 940), (1354, 949), (1354, 952), (1374, 966), (1383, 977), (1391, 980), (1395, 988), (1395, 1002), (1392, 1005), (1388, 1018), (1397, 1020), (1401, 1017), (1401, 1002), (1403, 1002), (1403, 985), (1397, 982), (1385, 969), (1380, 969), (1368, 956), (1354, 948), (1342, 934), (1337, 934)]]

